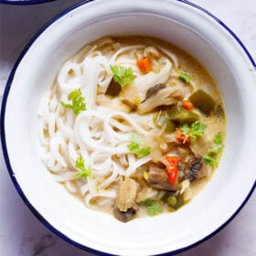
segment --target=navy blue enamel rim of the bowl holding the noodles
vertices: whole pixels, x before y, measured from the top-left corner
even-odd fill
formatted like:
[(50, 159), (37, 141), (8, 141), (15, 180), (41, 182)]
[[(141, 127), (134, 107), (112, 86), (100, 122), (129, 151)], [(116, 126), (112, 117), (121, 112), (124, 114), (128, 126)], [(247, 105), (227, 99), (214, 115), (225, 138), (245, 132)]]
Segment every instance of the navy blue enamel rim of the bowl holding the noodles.
[[(36, 0), (36, 1), (33, 1), (33, 2), (42, 2), (43, 0)], [(50, 0), (50, 1), (53, 1), (53, 0)], [(11, 166), (11, 163), (10, 163), (10, 160), (9, 160), (9, 156), (8, 156), (8, 152), (7, 152), (7, 145), (6, 145), (6, 141), (5, 141), (5, 107), (6, 107), (6, 102), (7, 102), (7, 98), (8, 98), (8, 94), (9, 94), (9, 91), (10, 91), (10, 88), (11, 88), (11, 84), (12, 84), (12, 81), (14, 79), (14, 76), (15, 76), (15, 73), (16, 73), (16, 69), (21, 61), (21, 59), (23, 59), (23, 57), (26, 55), (27, 53), (27, 50), (32, 46), (32, 44), (37, 40), (37, 37), (39, 37), (51, 24), (53, 24), (55, 21), (57, 21), (59, 18), (61, 18), (62, 16), (65, 16), (67, 15), (70, 11), (78, 8), (80, 5), (86, 5), (88, 3), (91, 3), (91, 2), (94, 2), (94, 1), (97, 1), (97, 0), (84, 0), (76, 5), (73, 5), (71, 7), (69, 7), (68, 9), (66, 9), (65, 11), (61, 12), (58, 16), (54, 17), (52, 20), (50, 20), (44, 27), (42, 27), (38, 32), (37, 34), (30, 40), (30, 42), (27, 44), (27, 46), (23, 49), (22, 53), (20, 54), (19, 58), (16, 60), (16, 63), (9, 75), (9, 78), (6, 82), (6, 86), (5, 86), (5, 93), (4, 93), (4, 96), (3, 96), (3, 101), (2, 101), (2, 108), (1, 108), (1, 123), (0, 123), (0, 126), (1, 126), (1, 142), (2, 142), (2, 149), (3, 149), (3, 154), (4, 154), (4, 157), (5, 157), (5, 164), (6, 164), (6, 167), (8, 169), (8, 172), (9, 172), (9, 175), (11, 176), (11, 179), (16, 187), (16, 190), (18, 192), (18, 194), (20, 195), (20, 197), (22, 197), (23, 201), (25, 202), (25, 204), (27, 205), (27, 207), (33, 212), (33, 214), (37, 217), (37, 219), (39, 219), (41, 221), (41, 223), (43, 223), (49, 230), (51, 230), (53, 233), (55, 233), (56, 235), (58, 235), (61, 239), (63, 240), (66, 240), (68, 241), (70, 244), (74, 245), (75, 247), (77, 248), (80, 248), (81, 250), (83, 251), (87, 251), (87, 252), (91, 252), (91, 253), (94, 253), (96, 255), (108, 255), (108, 256), (113, 256), (114, 254), (111, 254), (111, 253), (107, 253), (107, 252), (103, 252), (103, 251), (96, 251), (94, 249), (91, 249), (89, 247), (86, 247), (84, 245), (81, 245), (80, 243), (74, 241), (74, 240), (71, 240), (69, 239), (69, 237), (67, 237), (66, 235), (64, 235), (63, 233), (61, 233), (58, 229), (54, 228), (53, 226), (51, 226), (50, 223), (48, 223), (48, 220), (44, 219), (43, 216), (40, 215), (39, 212), (37, 212), (37, 209), (34, 208), (30, 202), (28, 201), (27, 197), (25, 196), (25, 194), (23, 193), (21, 187), (19, 186), (18, 182), (16, 181), (16, 176), (15, 176), (15, 173), (12, 169), (12, 166)], [(229, 34), (237, 41), (237, 43), (240, 45), (240, 48), (243, 49), (243, 51), (245, 52), (245, 54), (247, 55), (248, 59), (250, 59), (251, 61), (251, 65), (252, 65), (252, 68), (253, 69), (256, 69), (256, 63), (255, 61), (252, 59), (251, 57), (251, 54), (249, 53), (248, 49), (242, 44), (242, 42), (240, 41), (240, 38), (237, 37), (235, 35), (235, 33), (229, 28), (227, 27), (222, 21), (219, 20), (219, 18), (217, 18), (216, 16), (212, 15), (210, 12), (208, 12), (206, 9), (198, 6), (198, 5), (195, 5), (187, 0), (176, 0), (177, 2), (182, 2), (186, 5), (190, 5), (192, 7), (195, 7), (197, 8), (197, 10), (207, 14), (208, 16), (210, 16), (211, 18), (213, 18), (217, 23), (219, 23), (219, 25), (221, 27), (223, 27), (224, 29), (226, 29)], [(5, 2), (8, 2), (8, 1), (5, 1)], [(13, 2), (13, 1), (12, 1)], [(169, 251), (169, 252), (165, 252), (165, 253), (160, 253), (160, 254), (157, 254), (157, 255), (161, 255), (161, 256), (167, 256), (167, 255), (174, 255), (176, 253), (180, 253), (182, 251), (187, 251), (187, 250), (190, 250), (194, 247), (196, 247), (197, 245), (203, 243), (204, 241), (212, 238), (214, 235), (216, 235), (217, 233), (219, 233), (219, 231), (221, 229), (224, 229), (228, 224), (229, 222), (234, 219), (238, 213), (240, 212), (241, 208), (243, 208), (245, 206), (245, 204), (247, 203), (247, 201), (249, 200), (249, 198), (251, 197), (253, 191), (255, 190), (256, 188), (256, 181), (254, 182), (253, 186), (251, 187), (251, 190), (249, 192), (249, 194), (247, 195), (247, 197), (244, 199), (244, 201), (241, 203), (240, 205), (240, 208), (238, 208), (232, 216), (229, 217), (228, 220), (226, 220), (226, 222), (224, 222), (218, 229), (214, 230), (212, 233), (208, 234), (208, 236), (206, 236), (205, 238), (203, 238), (202, 240), (197, 240), (195, 243), (193, 244), (190, 244), (184, 248), (181, 248), (181, 249), (177, 249), (175, 251)], [(156, 255), (155, 255), (156, 256)]]

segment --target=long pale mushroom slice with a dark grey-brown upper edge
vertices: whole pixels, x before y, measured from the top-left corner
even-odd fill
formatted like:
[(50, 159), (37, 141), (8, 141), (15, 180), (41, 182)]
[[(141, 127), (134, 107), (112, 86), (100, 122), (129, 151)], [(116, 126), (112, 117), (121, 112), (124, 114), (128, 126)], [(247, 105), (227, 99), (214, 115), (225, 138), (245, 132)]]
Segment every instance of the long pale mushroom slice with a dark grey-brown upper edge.
[(144, 114), (154, 111), (157, 107), (174, 105), (182, 100), (183, 96), (184, 91), (179, 88), (156, 84), (146, 92), (144, 101), (138, 106), (138, 112)]

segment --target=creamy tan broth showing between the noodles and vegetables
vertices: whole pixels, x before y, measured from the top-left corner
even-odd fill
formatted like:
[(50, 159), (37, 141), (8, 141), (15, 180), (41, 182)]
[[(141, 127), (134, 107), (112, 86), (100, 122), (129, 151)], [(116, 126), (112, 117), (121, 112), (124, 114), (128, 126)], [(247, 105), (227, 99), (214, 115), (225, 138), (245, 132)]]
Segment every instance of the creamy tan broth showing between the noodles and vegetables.
[[(107, 43), (106, 41), (110, 41), (111, 43)], [(102, 46), (101, 46), (102, 45)], [(107, 47), (106, 47), (107, 45)], [(81, 63), (84, 61), (84, 59), (87, 58), (89, 55), (89, 52), (94, 52), (94, 55), (92, 54), (91, 58), (95, 58), (95, 56), (98, 56), (98, 52), (101, 53), (102, 56), (112, 56), (115, 54), (115, 52), (118, 50), (118, 48), (129, 48), (133, 47), (134, 45), (144, 45), (145, 47), (143, 49), (134, 50), (132, 54), (130, 54), (129, 58), (133, 56), (134, 60), (131, 60), (132, 62), (136, 62), (136, 59), (144, 58), (145, 55), (148, 55), (152, 60), (152, 72), (157, 73), (159, 72), (163, 67), (161, 64), (158, 63), (159, 59), (166, 58), (170, 59), (172, 62), (172, 70), (171, 72), (175, 75), (170, 75), (167, 80), (165, 80), (165, 84), (168, 87), (181, 87), (184, 91), (184, 99), (187, 99), (189, 95), (191, 95), (194, 91), (197, 91), (198, 89), (202, 89), (203, 91), (206, 91), (213, 99), (216, 101), (216, 109), (214, 113), (211, 114), (205, 114), (204, 112), (201, 112), (200, 109), (197, 107), (193, 110), (193, 112), (197, 113), (200, 116), (199, 122), (205, 123), (207, 125), (207, 132), (204, 134), (204, 139), (197, 138), (197, 140), (194, 141), (194, 143), (191, 143), (191, 148), (196, 152), (196, 155), (201, 155), (204, 157), (204, 155), (208, 154), (208, 150), (210, 147), (213, 147), (214, 144), (212, 143), (214, 140), (214, 137), (216, 133), (221, 133), (223, 140), (226, 136), (226, 115), (225, 115), (225, 109), (224, 109), (224, 103), (222, 101), (219, 88), (215, 80), (212, 78), (212, 76), (208, 73), (208, 70), (205, 69), (194, 57), (192, 57), (190, 54), (188, 54), (186, 51), (184, 51), (181, 48), (178, 48), (170, 43), (166, 43), (162, 40), (153, 38), (153, 37), (110, 37), (110, 38), (101, 38), (95, 42), (92, 42), (90, 45), (85, 46), (84, 48), (80, 49), (79, 52), (74, 54), (70, 59), (66, 61), (64, 65), (67, 63), (76, 61), (77, 63)], [(145, 50), (145, 48), (149, 48), (148, 52)], [(157, 48), (157, 52), (154, 52), (154, 50), (150, 48)], [(162, 50), (165, 49), (165, 50)], [(150, 52), (150, 50), (152, 50)], [(175, 62), (173, 59), (169, 58), (167, 51), (170, 51), (172, 54), (176, 56), (176, 59), (178, 59), (178, 65), (175, 67)], [(124, 56), (124, 59), (126, 52), (124, 51), (120, 55)], [(116, 59), (119, 59), (118, 65), (120, 66), (129, 66), (131, 63), (124, 63), (122, 62), (122, 58), (120, 56), (117, 56)], [(133, 65), (134, 65), (133, 63)], [(132, 64), (131, 64), (132, 65)], [(84, 66), (85, 67), (85, 66)], [(84, 72), (85, 68), (80, 68), (79, 71), (77, 71), (74, 68), (67, 69), (67, 79), (66, 80), (72, 80), (76, 77), (76, 74), (78, 72)], [(105, 71), (107, 72), (107, 71)], [(139, 72), (138, 70), (135, 71), (135, 77), (136, 73)], [(191, 82), (184, 82), (184, 80), (180, 80), (176, 74), (179, 74), (180, 72), (184, 72), (189, 74), (191, 77)], [(107, 76), (108, 73), (103, 74), (102, 76)], [(146, 74), (139, 74), (140, 76), (146, 75)], [(104, 79), (104, 78), (103, 78)], [(83, 81), (86, 84), (86, 80)], [(80, 83), (80, 82), (79, 82)], [(79, 84), (78, 83), (78, 84)], [(79, 85), (79, 87), (83, 87), (82, 83)], [(76, 85), (75, 85), (76, 87)], [(52, 85), (51, 88), (51, 96), (50, 99), (56, 97), (56, 99), (60, 102), (67, 97), (63, 96), (63, 91), (61, 91), (59, 88), (61, 88), (61, 85), (59, 84), (58, 77), (56, 78), (55, 82)], [(65, 93), (64, 93), (65, 94)], [(118, 111), (118, 112), (124, 112), (129, 114), (131, 117), (136, 120), (136, 122), (140, 123), (141, 127), (143, 129), (151, 129), (147, 127), (147, 124), (150, 123), (150, 127), (154, 126), (154, 119), (155, 114), (159, 112), (159, 109), (161, 108), (155, 108), (154, 110), (150, 112), (145, 113), (137, 113), (136, 111), (131, 111), (131, 108), (123, 103), (123, 99), (128, 99), (129, 101), (132, 101), (134, 104), (139, 106), (141, 102), (143, 101), (143, 97), (145, 94), (140, 92), (140, 89), (138, 87), (135, 87), (135, 83), (131, 82), (125, 85), (123, 88), (123, 91), (119, 93), (117, 96), (110, 96), (106, 95), (104, 91), (101, 91), (100, 83), (97, 83), (97, 89), (96, 89), (96, 98), (95, 98), (95, 105), (96, 109), (99, 109), (99, 107), (103, 107), (104, 109), (109, 109), (110, 111)], [(64, 98), (63, 98), (64, 97)], [(87, 96), (85, 91), (85, 98), (86, 100), (89, 100), (90, 97)], [(67, 98), (69, 100), (69, 98)], [(67, 101), (68, 101), (67, 100)], [(180, 104), (181, 101), (178, 102)], [(164, 108), (163, 111), (168, 111), (171, 106), (168, 106), (167, 108)], [(161, 110), (162, 111), (162, 110)], [(86, 112), (86, 111), (85, 111)], [(101, 111), (100, 111), (101, 112)], [(69, 120), (75, 120), (79, 117), (79, 115), (73, 116), (70, 113), (70, 110), (68, 109), (61, 109), (60, 110), (60, 119), (63, 119), (63, 123), (69, 123)], [(65, 117), (67, 115), (67, 117)], [(72, 117), (70, 117), (72, 115)], [(75, 122), (75, 121), (72, 121)], [(120, 125), (127, 125), (129, 122), (124, 120), (123, 118), (116, 118), (115, 122), (121, 123)], [(95, 122), (97, 125), (100, 125), (99, 123)], [(153, 126), (152, 126), (153, 125)], [(56, 124), (57, 128), (59, 129), (59, 124)], [(177, 125), (178, 127), (179, 125)], [(75, 124), (69, 124), (69, 128), (72, 129), (75, 127)], [(44, 135), (48, 139), (50, 138), (49, 125), (47, 128), (44, 129)], [(75, 129), (75, 128), (74, 128)], [(93, 128), (90, 128), (91, 131)], [(161, 130), (161, 127), (154, 127), (155, 130)], [(119, 128), (113, 129), (115, 132), (119, 132)], [(156, 132), (157, 132), (156, 131)], [(101, 140), (101, 138), (99, 137)], [(70, 139), (67, 139), (67, 142), (69, 143)], [(197, 142), (197, 143), (196, 143)], [(126, 143), (127, 145), (128, 143)], [(178, 144), (180, 147), (186, 147), (187, 145), (183, 145), (183, 143), (177, 143), (175, 141), (172, 141), (171, 143), (165, 143), (161, 138), (158, 139), (152, 139), (148, 138), (147, 136), (144, 136), (144, 144), (148, 144), (151, 146), (151, 152), (150, 155), (152, 156), (151, 161), (154, 161), (155, 163), (159, 161), (161, 165), (165, 164), (164, 155), (176, 155), (176, 148), (174, 148), (174, 144)], [(156, 146), (152, 146), (152, 144), (156, 144)], [(171, 144), (171, 145), (170, 145)], [(168, 147), (170, 147), (168, 150)], [(74, 151), (76, 152), (75, 155), (80, 155), (82, 153), (83, 147), (80, 146), (80, 143), (74, 143)], [(155, 150), (157, 148), (157, 150)], [(161, 148), (161, 149), (159, 149)], [(165, 149), (162, 149), (165, 148)], [(165, 153), (163, 153), (165, 152)], [(63, 152), (60, 150), (60, 155), (63, 155), (63, 158), (65, 158), (68, 153)], [(88, 153), (82, 154), (82, 155), (93, 155), (93, 150), (89, 149)], [(162, 155), (161, 155), (162, 154)], [(99, 154), (101, 155), (101, 154)], [(159, 155), (159, 159), (157, 159)], [(217, 157), (217, 164), (218, 166), (219, 159), (220, 159), (221, 153)], [(90, 156), (88, 156), (90, 157)], [(118, 163), (120, 165), (119, 155), (112, 155), (110, 156), (110, 160), (112, 160), (115, 163)], [(129, 165), (127, 164), (127, 159), (129, 156), (126, 156), (126, 158), (123, 158), (124, 163), (124, 171), (125, 169), (129, 169)], [(136, 157), (135, 157), (136, 158)], [(87, 162), (91, 163), (90, 159), (86, 159)], [(136, 159), (135, 159), (136, 160)], [(138, 159), (137, 159), (138, 160)], [(107, 160), (106, 160), (107, 161)], [(128, 161), (129, 162), (129, 161)], [(185, 165), (184, 165), (185, 166)], [(75, 197), (80, 198), (83, 202), (87, 204), (87, 206), (90, 206), (90, 208), (96, 208), (100, 209), (102, 211), (112, 213), (113, 208), (116, 208), (116, 199), (111, 197), (110, 199), (105, 197), (105, 194), (103, 193), (105, 191), (114, 191), (116, 190), (118, 194), (118, 187), (120, 187), (120, 183), (124, 180), (123, 175), (118, 175), (115, 180), (112, 181), (108, 186), (102, 188), (101, 183), (106, 182), (107, 179), (109, 179), (112, 174), (106, 174), (104, 176), (98, 175), (98, 173), (101, 173), (101, 170), (94, 171), (92, 167), (90, 167), (92, 170), (92, 177), (93, 179), (88, 181), (90, 177), (82, 178), (79, 176), (76, 176), (76, 173), (78, 172), (78, 167), (75, 163), (75, 159), (68, 159), (67, 160), (67, 168), (64, 168), (60, 171), (60, 173), (69, 176), (68, 180), (60, 181), (64, 184), (64, 186), (67, 188), (67, 190), (74, 195)], [(144, 171), (148, 168), (148, 164), (141, 165), (135, 170), (130, 176), (139, 184), (139, 188), (137, 191), (137, 194), (139, 194), (143, 189), (144, 186), (148, 187), (148, 184), (144, 181)], [(48, 167), (49, 171), (56, 175), (57, 172), (54, 170), (54, 168)], [(205, 187), (209, 180), (212, 178), (214, 172), (216, 171), (216, 167), (212, 167), (209, 165), (206, 165), (207, 169), (207, 176), (203, 176), (201, 178), (198, 178), (196, 180), (193, 180), (190, 182), (190, 186), (184, 189), (182, 193), (183, 197), (183, 203), (182, 205), (187, 204), (193, 197), (199, 193), (203, 187)], [(69, 174), (68, 174), (69, 172)], [(182, 174), (184, 175), (184, 174)], [(182, 180), (182, 179), (181, 179)], [(91, 188), (88, 190), (88, 182), (90, 183)], [(93, 188), (94, 187), (94, 188)], [(163, 202), (163, 198), (165, 197), (166, 190), (165, 189), (158, 189), (153, 188), (156, 190), (155, 196), (153, 197), (154, 200), (157, 200), (159, 206), (162, 205), (164, 212), (172, 212), (176, 209), (166, 206), (165, 202)], [(178, 185), (178, 191), (182, 190), (181, 183)], [(91, 197), (91, 199), (88, 199), (85, 197), (85, 195), (90, 195), (90, 191), (93, 191), (95, 196)], [(101, 196), (101, 191), (102, 195)], [(149, 193), (149, 196), (151, 197), (151, 194)], [(117, 196), (118, 197), (118, 196)], [(139, 197), (139, 196), (138, 196)], [(138, 198), (137, 197), (137, 198)], [(143, 198), (143, 197), (142, 197)], [(145, 199), (145, 197), (143, 198)], [(139, 206), (139, 210), (136, 212), (135, 217), (141, 218), (146, 216), (146, 207), (141, 202), (144, 200), (137, 200), (136, 204)], [(165, 205), (164, 205), (165, 204)], [(102, 207), (101, 207), (102, 206)]]

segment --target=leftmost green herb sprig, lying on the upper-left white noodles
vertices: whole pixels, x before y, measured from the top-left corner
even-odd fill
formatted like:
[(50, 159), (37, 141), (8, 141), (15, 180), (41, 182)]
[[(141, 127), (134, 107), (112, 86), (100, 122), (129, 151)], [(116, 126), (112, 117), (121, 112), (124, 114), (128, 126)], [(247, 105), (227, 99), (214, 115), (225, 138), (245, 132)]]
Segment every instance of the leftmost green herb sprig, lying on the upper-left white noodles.
[(69, 93), (69, 99), (72, 101), (72, 104), (60, 101), (61, 105), (65, 108), (72, 109), (76, 115), (78, 115), (82, 111), (86, 111), (85, 98), (81, 96), (80, 89), (71, 91)]

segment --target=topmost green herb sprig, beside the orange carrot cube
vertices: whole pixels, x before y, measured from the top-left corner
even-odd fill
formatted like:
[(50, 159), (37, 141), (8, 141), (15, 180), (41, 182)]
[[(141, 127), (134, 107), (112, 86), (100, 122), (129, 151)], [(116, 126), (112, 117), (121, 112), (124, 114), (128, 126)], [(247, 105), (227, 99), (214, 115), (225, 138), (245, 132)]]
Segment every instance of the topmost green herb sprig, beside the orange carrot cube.
[(113, 73), (113, 80), (118, 82), (122, 89), (127, 84), (134, 80), (133, 76), (133, 69), (124, 68), (121, 66), (111, 66), (112, 73)]

